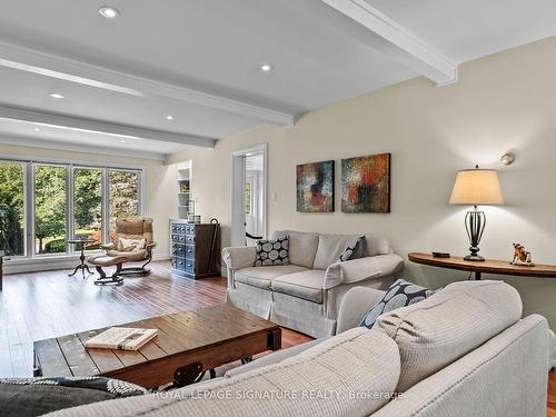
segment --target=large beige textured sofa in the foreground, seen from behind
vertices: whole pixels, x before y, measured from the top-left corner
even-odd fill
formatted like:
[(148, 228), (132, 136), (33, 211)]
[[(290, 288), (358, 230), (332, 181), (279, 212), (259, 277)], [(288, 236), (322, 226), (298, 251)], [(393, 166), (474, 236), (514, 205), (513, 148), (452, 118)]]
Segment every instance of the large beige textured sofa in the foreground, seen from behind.
[(381, 315), (370, 330), (357, 327), (383, 295), (350, 289), (339, 309), (339, 335), (256, 359), (221, 378), (53, 415), (546, 416), (548, 324), (538, 315), (522, 319), (513, 287), (455, 282)]

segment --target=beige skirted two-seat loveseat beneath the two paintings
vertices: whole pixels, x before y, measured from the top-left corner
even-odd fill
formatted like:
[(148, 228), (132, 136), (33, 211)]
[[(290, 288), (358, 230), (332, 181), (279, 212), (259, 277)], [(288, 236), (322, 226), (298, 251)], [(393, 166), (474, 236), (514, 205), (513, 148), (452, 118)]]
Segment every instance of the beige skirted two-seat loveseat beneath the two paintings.
[(280, 230), (289, 237), (291, 265), (254, 267), (255, 247), (222, 250), (228, 267), (227, 301), (280, 326), (326, 337), (335, 334), (338, 308), (354, 286), (385, 289), (398, 278), (404, 260), (388, 241), (365, 235), (365, 257), (338, 258), (361, 235), (325, 235)]

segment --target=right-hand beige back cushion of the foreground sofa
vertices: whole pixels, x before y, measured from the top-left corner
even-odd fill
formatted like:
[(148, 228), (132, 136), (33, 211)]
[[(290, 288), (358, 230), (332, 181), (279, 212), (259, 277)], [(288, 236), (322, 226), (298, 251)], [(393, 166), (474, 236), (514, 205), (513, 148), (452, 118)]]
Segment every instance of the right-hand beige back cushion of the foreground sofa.
[(502, 281), (448, 285), (420, 302), (381, 315), (373, 329), (397, 344), (405, 391), (498, 335), (522, 317), (522, 299)]

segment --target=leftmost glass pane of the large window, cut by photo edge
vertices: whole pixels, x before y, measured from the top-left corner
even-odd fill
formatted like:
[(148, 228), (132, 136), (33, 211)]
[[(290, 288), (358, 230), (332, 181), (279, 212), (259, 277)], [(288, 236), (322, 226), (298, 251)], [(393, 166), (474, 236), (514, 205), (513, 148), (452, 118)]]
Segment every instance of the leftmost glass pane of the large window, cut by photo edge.
[(24, 165), (0, 161), (0, 250), (26, 255)]

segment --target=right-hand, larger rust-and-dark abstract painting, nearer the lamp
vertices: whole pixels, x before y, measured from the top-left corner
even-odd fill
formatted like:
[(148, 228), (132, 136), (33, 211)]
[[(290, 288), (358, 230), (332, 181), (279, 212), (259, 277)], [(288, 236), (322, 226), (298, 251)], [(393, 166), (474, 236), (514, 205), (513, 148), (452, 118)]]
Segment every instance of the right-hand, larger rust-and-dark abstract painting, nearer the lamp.
[(390, 153), (341, 160), (341, 211), (390, 212)]

